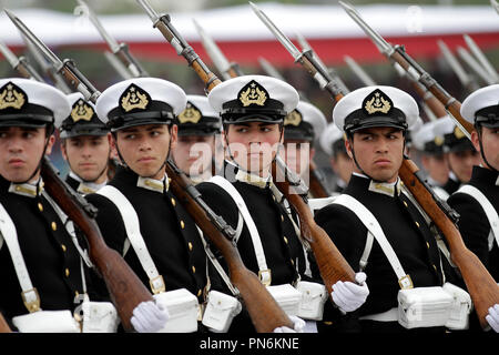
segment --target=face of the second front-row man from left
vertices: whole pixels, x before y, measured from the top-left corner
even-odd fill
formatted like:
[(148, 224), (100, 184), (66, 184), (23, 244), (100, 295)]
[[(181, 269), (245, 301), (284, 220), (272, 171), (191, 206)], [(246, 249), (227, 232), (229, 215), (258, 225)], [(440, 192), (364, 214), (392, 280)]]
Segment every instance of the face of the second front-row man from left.
[(169, 146), (175, 148), (177, 126), (171, 133), (166, 124), (145, 124), (116, 132), (118, 151), (126, 165), (143, 178), (162, 179)]

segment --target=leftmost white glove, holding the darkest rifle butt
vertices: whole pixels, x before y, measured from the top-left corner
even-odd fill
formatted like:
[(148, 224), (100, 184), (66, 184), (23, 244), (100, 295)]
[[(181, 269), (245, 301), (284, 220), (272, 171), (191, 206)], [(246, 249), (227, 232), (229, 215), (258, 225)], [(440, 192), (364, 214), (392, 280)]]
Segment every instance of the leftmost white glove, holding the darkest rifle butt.
[(161, 331), (169, 320), (169, 311), (153, 301), (141, 302), (130, 320), (138, 333), (155, 333)]

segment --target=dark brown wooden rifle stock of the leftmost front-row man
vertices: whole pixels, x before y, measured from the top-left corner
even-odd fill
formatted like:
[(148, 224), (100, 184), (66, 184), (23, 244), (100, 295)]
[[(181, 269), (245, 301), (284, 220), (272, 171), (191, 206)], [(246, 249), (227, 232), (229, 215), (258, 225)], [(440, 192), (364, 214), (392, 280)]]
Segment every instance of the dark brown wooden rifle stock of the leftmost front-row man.
[(50, 196), (85, 235), (90, 258), (104, 278), (123, 327), (133, 331), (130, 323), (133, 310), (141, 302), (152, 301), (151, 293), (123, 257), (105, 244), (95, 220), (75, 201), (70, 187), (59, 178), (47, 156), (43, 158), (41, 174)]

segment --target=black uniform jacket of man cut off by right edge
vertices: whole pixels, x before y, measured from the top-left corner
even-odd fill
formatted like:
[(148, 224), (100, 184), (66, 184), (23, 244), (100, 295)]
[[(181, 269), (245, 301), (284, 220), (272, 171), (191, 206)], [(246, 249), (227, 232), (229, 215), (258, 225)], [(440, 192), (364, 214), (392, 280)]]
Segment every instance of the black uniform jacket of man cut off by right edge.
[[(486, 168), (473, 166), (471, 180), (468, 184), (480, 190), (496, 211), (499, 211), (497, 179), (497, 172)], [(465, 244), (480, 258), (492, 277), (498, 281), (499, 247), (495, 239), (492, 248), (489, 251), (488, 237), (491, 229), (483, 209), (477, 200), (465, 193), (452, 194), (448, 203), (460, 215), (458, 226)]]

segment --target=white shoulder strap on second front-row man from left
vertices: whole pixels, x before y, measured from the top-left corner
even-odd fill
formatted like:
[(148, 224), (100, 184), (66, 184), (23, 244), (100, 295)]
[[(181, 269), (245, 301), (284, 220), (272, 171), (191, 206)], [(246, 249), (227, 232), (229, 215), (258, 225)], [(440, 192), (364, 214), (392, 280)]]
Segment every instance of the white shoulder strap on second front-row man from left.
[(154, 294), (165, 291), (165, 285), (163, 276), (157, 272), (156, 265), (145, 246), (144, 239), (141, 234), (139, 216), (136, 215), (135, 209), (132, 206), (130, 201), (114, 186), (105, 185), (100, 189), (98, 194), (108, 197), (114, 203), (114, 205), (120, 211), (123, 219), (123, 223), (126, 230), (126, 236), (135, 251), (139, 261), (141, 262), (142, 268), (145, 271), (151, 284), (151, 291)]

